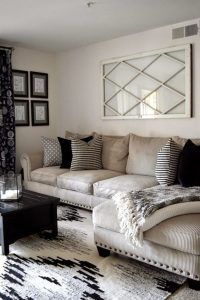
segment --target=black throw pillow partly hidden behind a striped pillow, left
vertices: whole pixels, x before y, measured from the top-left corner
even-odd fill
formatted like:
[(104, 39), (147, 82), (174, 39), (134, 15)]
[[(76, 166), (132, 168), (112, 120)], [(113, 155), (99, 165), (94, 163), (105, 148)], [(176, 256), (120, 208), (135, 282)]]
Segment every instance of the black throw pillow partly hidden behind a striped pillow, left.
[[(82, 141), (88, 143), (93, 139), (93, 136), (88, 136), (86, 138), (81, 139)], [(58, 137), (58, 141), (60, 143), (61, 147), (61, 153), (62, 153), (62, 162), (60, 165), (61, 169), (70, 169), (71, 162), (72, 162), (72, 147), (71, 147), (71, 140), (63, 139), (61, 137)]]

